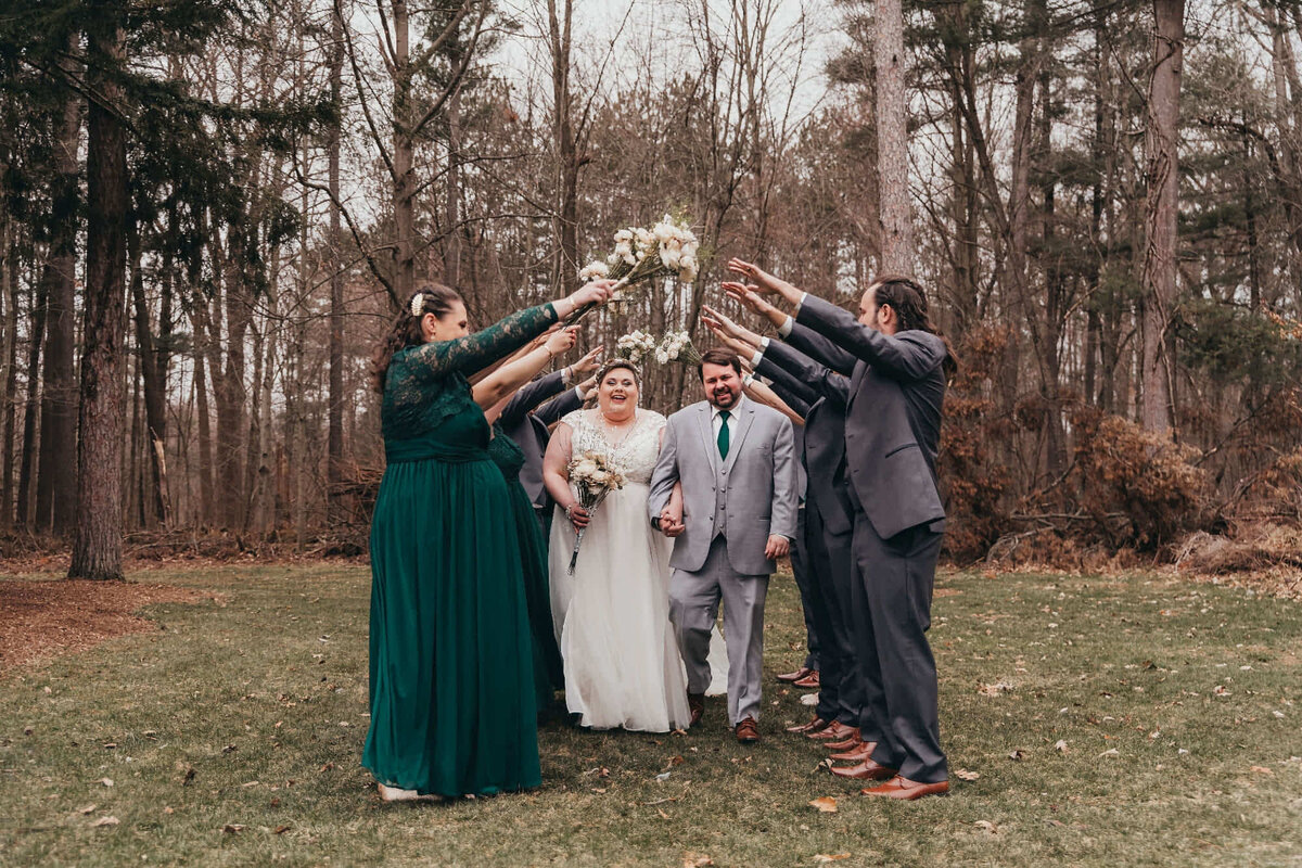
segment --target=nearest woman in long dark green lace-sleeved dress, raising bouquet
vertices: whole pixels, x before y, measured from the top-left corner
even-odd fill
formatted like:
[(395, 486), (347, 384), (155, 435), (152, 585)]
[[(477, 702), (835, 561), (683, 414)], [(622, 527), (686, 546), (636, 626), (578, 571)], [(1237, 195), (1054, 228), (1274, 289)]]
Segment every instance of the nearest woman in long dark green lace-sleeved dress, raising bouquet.
[[(385, 799), (542, 782), (523, 558), (466, 373), (608, 297), (608, 282), (590, 284), (469, 334), (461, 298), (430, 285), (376, 350), (388, 467), (371, 523), (371, 727), (362, 765)], [(505, 394), (518, 384), (479, 385)]]

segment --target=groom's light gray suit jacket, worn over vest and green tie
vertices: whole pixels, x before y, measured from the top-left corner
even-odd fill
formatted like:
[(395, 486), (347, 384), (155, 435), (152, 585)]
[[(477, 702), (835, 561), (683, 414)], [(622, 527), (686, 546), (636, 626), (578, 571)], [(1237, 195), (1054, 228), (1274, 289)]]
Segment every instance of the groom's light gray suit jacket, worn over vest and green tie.
[(771, 535), (796, 537), (797, 480), (792, 423), (772, 407), (746, 400), (733, 427), (728, 458), (719, 445), (707, 401), (669, 416), (660, 458), (651, 474), (648, 517), (655, 521), (669, 502), (673, 484), (682, 480), (684, 523), (669, 565), (695, 573), (720, 532), (728, 539), (728, 560), (741, 575), (769, 575), (776, 569), (764, 557)]

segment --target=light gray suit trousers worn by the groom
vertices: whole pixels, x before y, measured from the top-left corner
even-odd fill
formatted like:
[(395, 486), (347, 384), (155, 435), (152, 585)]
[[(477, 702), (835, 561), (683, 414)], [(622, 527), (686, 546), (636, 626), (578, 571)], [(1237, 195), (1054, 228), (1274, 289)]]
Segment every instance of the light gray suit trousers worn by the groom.
[(728, 560), (721, 534), (710, 544), (706, 562), (695, 573), (674, 570), (669, 576), (669, 619), (687, 668), (687, 692), (710, 687), (710, 632), (724, 604), (724, 642), (728, 645), (728, 721), (759, 720), (764, 665), (764, 597), (767, 575), (741, 575)]

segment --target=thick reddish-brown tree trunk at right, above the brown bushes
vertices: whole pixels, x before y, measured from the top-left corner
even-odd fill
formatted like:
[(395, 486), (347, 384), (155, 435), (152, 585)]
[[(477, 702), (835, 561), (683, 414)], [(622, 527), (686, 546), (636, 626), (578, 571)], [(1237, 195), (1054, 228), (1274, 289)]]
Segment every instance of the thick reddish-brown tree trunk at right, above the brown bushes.
[(1173, 426), (1170, 321), (1176, 305), (1177, 206), (1180, 197), (1180, 78), (1185, 51), (1185, 1), (1154, 0), (1154, 66), (1144, 135), (1148, 193), (1141, 297), (1143, 360), (1142, 422), (1147, 431)]

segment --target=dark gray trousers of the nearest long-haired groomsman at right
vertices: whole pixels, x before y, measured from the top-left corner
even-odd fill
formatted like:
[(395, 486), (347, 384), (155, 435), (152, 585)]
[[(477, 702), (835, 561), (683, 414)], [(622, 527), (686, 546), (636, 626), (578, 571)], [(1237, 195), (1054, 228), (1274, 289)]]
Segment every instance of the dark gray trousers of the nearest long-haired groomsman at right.
[(854, 510), (852, 593), (862, 668), (865, 742), (872, 759), (910, 781), (945, 781), (940, 750), (936, 660), (927, 642), (931, 592), (944, 534), (928, 524), (881, 539)]

